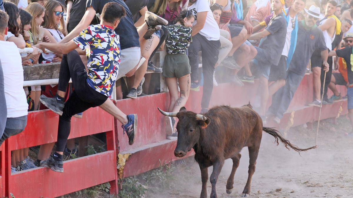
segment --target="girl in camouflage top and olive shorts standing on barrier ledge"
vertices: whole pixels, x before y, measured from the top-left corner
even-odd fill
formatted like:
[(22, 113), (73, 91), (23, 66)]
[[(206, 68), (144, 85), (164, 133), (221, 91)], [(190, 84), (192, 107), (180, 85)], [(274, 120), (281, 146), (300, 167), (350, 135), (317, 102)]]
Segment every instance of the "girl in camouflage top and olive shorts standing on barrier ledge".
[[(187, 98), (189, 98), (191, 66), (186, 55), (186, 49), (192, 42), (191, 27), (194, 20), (195, 17), (191, 11), (183, 10), (178, 18), (175, 19), (177, 23), (167, 26), (169, 33), (166, 39), (167, 55), (164, 58), (163, 76), (166, 79), (170, 94), (169, 112), (179, 112), (180, 108), (185, 106)], [(173, 133), (174, 118), (165, 117), (164, 120), (166, 122), (167, 138), (177, 138), (177, 133)]]

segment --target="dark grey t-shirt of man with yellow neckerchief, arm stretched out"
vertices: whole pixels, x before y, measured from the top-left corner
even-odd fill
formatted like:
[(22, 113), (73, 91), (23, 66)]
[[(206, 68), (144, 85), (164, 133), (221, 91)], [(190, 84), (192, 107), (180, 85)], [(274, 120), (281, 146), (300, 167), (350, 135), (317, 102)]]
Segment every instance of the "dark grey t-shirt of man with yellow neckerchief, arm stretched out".
[(269, 63), (278, 65), (287, 35), (287, 21), (283, 14), (272, 17), (265, 30), (271, 34), (261, 40), (259, 48), (264, 49)]

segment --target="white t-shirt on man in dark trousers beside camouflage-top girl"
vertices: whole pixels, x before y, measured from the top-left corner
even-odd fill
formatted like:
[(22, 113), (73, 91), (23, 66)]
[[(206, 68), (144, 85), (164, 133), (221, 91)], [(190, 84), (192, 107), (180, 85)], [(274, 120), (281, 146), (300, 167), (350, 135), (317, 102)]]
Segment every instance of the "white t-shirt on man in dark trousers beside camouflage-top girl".
[[(187, 10), (190, 10), (195, 15), (195, 17), (197, 17), (198, 12), (207, 12), (205, 25), (203, 26), (203, 29), (199, 31), (199, 33), (206, 37), (209, 41), (218, 41), (220, 39), (220, 29), (215, 19), (213, 18), (213, 14), (207, 0), (197, 0), (194, 4), (188, 7)], [(197, 19), (192, 25), (196, 24)]]

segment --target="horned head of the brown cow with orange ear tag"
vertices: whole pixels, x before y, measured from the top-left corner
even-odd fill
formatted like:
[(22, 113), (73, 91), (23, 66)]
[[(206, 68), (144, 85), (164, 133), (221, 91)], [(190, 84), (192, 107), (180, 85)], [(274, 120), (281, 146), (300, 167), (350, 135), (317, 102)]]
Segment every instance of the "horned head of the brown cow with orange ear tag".
[(185, 107), (181, 107), (179, 112), (164, 112), (158, 110), (165, 116), (177, 117), (178, 142), (174, 150), (176, 157), (183, 157), (198, 142), (202, 129), (206, 128), (210, 123), (210, 119), (201, 114), (192, 111), (186, 111)]

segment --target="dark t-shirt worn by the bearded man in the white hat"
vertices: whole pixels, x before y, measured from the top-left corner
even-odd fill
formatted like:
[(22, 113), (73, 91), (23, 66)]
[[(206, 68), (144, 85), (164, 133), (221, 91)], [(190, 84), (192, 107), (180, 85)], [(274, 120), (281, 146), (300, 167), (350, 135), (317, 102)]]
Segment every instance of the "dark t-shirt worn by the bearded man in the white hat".
[[(298, 75), (305, 74), (306, 66), (309, 64), (310, 57), (315, 50), (321, 53), (322, 50), (327, 49), (322, 31), (318, 27), (307, 30), (302, 23), (302, 21), (298, 22), (297, 47), (295, 47), (293, 58), (288, 68), (289, 71)], [(321, 55), (319, 56), (321, 61)]]

